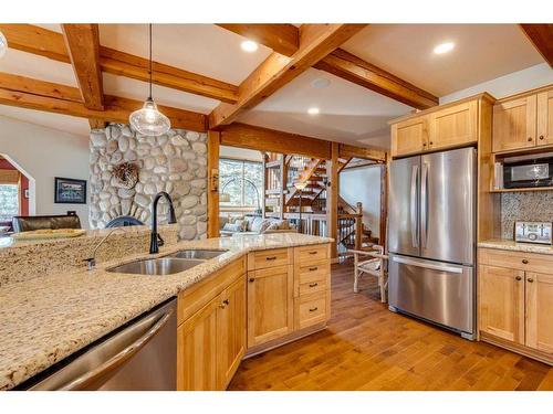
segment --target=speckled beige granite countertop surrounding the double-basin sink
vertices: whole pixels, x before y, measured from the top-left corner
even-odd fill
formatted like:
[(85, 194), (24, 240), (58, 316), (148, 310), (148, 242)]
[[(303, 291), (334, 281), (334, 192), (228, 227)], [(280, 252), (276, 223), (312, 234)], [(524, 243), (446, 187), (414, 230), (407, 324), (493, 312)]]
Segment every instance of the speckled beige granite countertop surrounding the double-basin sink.
[(18, 385), (248, 252), (330, 242), (298, 233), (179, 242), (163, 247), (159, 255), (184, 248), (228, 252), (170, 276), (105, 272), (149, 257), (135, 254), (92, 272), (52, 274), (0, 287), (0, 390)]

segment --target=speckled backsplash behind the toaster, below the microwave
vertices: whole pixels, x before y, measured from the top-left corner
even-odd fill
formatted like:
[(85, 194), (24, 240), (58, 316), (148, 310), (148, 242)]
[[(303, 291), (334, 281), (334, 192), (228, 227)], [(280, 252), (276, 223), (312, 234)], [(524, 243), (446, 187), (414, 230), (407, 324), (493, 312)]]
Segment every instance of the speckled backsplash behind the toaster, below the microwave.
[(553, 191), (501, 194), (502, 238), (513, 238), (517, 220), (553, 222)]

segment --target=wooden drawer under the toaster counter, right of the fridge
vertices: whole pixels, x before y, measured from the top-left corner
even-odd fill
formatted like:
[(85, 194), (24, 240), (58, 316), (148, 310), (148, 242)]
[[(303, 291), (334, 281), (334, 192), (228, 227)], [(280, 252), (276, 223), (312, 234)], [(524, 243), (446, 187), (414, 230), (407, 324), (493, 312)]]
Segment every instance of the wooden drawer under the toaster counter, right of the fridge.
[(480, 248), (478, 252), (479, 264), (482, 265), (545, 274), (551, 273), (551, 269), (553, 268), (553, 256), (550, 255), (500, 251), (495, 248)]

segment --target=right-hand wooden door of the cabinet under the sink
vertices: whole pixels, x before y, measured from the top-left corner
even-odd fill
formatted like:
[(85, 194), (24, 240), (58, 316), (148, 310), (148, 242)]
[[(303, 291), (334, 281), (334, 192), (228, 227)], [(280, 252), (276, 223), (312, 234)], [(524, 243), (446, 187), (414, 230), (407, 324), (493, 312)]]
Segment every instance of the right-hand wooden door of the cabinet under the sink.
[(219, 296), (217, 308), (217, 372), (225, 390), (246, 353), (246, 275)]

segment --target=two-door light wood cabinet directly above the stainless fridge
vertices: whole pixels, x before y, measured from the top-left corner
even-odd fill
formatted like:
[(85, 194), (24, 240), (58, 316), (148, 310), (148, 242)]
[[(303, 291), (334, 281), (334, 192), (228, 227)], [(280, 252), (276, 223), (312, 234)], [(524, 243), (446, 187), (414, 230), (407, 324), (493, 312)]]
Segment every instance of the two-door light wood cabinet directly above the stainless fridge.
[(393, 121), (392, 157), (478, 142), (481, 124), (486, 121), (481, 116), (482, 103), (490, 107), (492, 100), (490, 95), (481, 94)]

